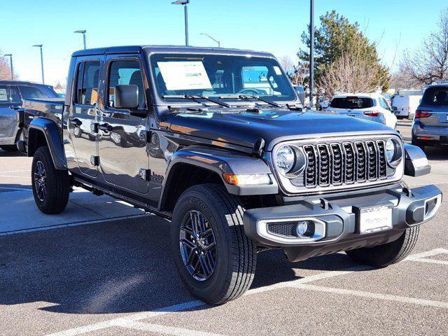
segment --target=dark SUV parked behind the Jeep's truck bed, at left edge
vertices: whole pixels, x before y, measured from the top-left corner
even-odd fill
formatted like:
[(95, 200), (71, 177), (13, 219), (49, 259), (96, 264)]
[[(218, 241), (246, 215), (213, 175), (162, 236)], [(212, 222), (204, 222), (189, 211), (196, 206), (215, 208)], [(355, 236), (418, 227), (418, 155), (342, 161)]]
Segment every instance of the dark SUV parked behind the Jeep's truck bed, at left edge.
[(18, 109), (22, 99), (57, 98), (50, 85), (30, 82), (0, 80), (0, 148), (17, 151), (17, 141), (22, 137), (18, 122)]

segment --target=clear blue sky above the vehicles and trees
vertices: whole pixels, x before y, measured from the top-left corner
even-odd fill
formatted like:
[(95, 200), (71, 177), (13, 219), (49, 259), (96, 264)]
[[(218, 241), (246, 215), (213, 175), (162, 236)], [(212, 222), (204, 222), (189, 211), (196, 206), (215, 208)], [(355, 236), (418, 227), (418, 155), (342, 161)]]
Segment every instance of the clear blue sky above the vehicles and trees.
[[(172, 1), (3, 0), (0, 50), (13, 53), (15, 72), (22, 80), (40, 81), (38, 48), (31, 45), (42, 43), (45, 83), (64, 82), (71, 52), (83, 46), (81, 35), (73, 34), (78, 29), (87, 29), (87, 48), (182, 45), (183, 8)], [(223, 47), (294, 57), (309, 22), (309, 0), (190, 2), (190, 45), (215, 45), (200, 35), (207, 33), (221, 40)], [(379, 54), (391, 66), (397, 45), (398, 56), (416, 48), (447, 7), (447, 0), (315, 0), (315, 20), (335, 9), (351, 22), (367, 26), (367, 36), (379, 41)]]

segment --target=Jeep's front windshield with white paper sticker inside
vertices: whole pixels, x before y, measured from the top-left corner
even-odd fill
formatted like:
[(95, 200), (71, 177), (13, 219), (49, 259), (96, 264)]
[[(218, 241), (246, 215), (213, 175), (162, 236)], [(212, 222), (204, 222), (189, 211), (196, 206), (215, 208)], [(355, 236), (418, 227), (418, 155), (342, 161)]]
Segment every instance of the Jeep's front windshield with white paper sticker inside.
[(256, 95), (293, 101), (295, 94), (275, 59), (233, 55), (154, 54), (151, 71), (158, 94), (170, 102), (179, 95), (237, 99)]

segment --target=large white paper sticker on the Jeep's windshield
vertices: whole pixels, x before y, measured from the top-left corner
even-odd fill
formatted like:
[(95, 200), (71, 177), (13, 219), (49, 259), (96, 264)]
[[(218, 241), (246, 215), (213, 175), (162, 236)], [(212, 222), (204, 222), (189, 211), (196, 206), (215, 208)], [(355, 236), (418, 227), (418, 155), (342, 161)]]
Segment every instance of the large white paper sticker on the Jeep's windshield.
[(211, 89), (202, 62), (158, 62), (167, 90)]

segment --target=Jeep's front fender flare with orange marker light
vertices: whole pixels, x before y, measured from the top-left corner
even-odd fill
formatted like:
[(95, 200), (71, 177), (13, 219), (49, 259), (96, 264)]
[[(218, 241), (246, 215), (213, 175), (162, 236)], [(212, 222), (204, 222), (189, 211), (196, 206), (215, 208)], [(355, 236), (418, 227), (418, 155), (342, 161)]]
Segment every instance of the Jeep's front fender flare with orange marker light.
[[(221, 181), (223, 181), (223, 185), (232, 195), (275, 195), (279, 193), (279, 186), (276, 183), (274, 174), (260, 158), (218, 148), (190, 146), (176, 151), (168, 162), (166, 178), (162, 183), (159, 209), (164, 207), (165, 201), (169, 196), (170, 183), (174, 174), (176, 174), (176, 166), (180, 164), (193, 165), (218, 174)], [(233, 186), (224, 181), (223, 173), (236, 175), (268, 174), (272, 183), (263, 186)]]

